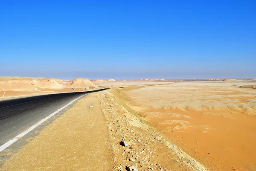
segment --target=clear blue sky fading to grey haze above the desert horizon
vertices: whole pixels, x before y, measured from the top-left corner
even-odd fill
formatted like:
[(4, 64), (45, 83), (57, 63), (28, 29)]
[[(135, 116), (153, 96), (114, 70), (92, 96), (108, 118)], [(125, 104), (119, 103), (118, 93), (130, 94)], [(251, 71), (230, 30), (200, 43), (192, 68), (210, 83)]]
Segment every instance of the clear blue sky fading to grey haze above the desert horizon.
[(0, 0), (0, 75), (256, 77), (255, 0)]

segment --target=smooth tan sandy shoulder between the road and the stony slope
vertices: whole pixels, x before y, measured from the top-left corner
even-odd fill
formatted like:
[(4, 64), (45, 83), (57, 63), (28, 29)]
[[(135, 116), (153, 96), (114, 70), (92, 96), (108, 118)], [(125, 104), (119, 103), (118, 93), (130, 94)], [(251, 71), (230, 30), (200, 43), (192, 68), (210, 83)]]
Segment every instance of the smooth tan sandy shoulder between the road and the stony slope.
[(108, 130), (99, 102), (96, 93), (79, 100), (8, 159), (0, 170), (111, 171)]

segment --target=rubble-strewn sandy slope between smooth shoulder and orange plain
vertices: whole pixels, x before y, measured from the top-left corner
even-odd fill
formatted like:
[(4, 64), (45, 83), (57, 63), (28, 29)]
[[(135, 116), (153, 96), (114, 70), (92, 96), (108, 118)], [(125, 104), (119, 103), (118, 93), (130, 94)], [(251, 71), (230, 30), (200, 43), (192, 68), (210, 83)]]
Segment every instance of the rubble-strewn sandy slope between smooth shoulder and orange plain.
[[(115, 90), (108, 90), (99, 98), (112, 139), (113, 168), (123, 171), (124, 166), (132, 165), (139, 171), (208, 171), (141, 119)], [(121, 141), (131, 145), (122, 147)]]

